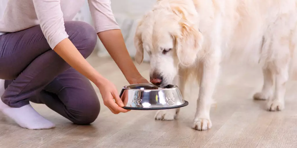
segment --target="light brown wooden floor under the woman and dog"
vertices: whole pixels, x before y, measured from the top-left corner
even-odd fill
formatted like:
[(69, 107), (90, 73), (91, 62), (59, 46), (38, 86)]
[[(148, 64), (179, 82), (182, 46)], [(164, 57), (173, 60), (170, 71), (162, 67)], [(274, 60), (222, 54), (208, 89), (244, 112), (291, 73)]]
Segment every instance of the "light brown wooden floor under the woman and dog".
[[(112, 59), (91, 56), (88, 60), (115, 83), (119, 91), (128, 84)], [(137, 67), (149, 78), (148, 64)], [(27, 130), (1, 114), (0, 148), (296, 148), (297, 83), (287, 85), (285, 110), (268, 112), (265, 101), (252, 99), (261, 89), (262, 77), (259, 67), (243, 67), (236, 71), (224, 66), (214, 95), (217, 106), (211, 109), (213, 126), (208, 131), (191, 128), (198, 89), (189, 85), (184, 98), (189, 105), (181, 109), (175, 121), (155, 121), (155, 111), (113, 115), (102, 104), (100, 115), (91, 126), (77, 126), (45, 105), (32, 104), (41, 115), (55, 123), (56, 128)]]

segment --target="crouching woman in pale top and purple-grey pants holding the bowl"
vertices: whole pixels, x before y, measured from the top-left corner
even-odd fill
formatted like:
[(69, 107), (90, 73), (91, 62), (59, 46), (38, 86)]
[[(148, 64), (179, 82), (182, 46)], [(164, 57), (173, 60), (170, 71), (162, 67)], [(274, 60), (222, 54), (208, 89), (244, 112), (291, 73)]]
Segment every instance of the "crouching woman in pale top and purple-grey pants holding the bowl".
[(148, 82), (129, 57), (110, 0), (89, 0), (95, 28), (71, 21), (83, 3), (1, 0), (0, 110), (19, 126), (55, 127), (29, 101), (45, 104), (75, 124), (92, 123), (100, 104), (90, 81), (113, 113), (127, 112), (114, 84), (85, 60), (94, 50), (97, 36), (130, 84)]

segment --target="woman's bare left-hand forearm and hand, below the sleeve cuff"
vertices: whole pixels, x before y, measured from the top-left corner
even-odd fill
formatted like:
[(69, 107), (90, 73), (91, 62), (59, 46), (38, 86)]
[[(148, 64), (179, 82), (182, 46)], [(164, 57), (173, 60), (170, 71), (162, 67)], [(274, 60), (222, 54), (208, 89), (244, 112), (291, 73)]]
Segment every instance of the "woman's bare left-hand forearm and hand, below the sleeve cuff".
[[(60, 57), (62, 57), (70, 66), (79, 73), (91, 80), (100, 90), (103, 102), (113, 113), (127, 112), (121, 107), (124, 106), (119, 97), (116, 87), (100, 75), (90, 64), (84, 59), (72, 42), (66, 38), (59, 42), (53, 49)], [(116, 100), (116, 103), (114, 100)], [(121, 106), (121, 107), (120, 107)]]

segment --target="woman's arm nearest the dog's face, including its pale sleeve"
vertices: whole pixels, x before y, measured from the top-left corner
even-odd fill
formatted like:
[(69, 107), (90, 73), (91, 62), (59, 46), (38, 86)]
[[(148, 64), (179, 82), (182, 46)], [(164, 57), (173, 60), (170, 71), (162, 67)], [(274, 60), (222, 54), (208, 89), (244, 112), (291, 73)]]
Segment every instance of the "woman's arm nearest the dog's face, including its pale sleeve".
[(130, 84), (148, 83), (136, 69), (124, 43), (123, 35), (113, 16), (110, 0), (88, 0), (95, 30), (110, 56)]

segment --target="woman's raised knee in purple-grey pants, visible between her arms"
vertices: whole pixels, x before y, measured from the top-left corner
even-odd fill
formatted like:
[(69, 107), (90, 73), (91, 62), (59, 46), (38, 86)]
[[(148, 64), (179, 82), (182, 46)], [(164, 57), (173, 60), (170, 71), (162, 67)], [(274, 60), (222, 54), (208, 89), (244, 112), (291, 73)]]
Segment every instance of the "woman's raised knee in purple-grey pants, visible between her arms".
[(83, 57), (89, 57), (97, 43), (98, 37), (95, 29), (86, 22), (67, 21), (65, 22), (65, 30)]

